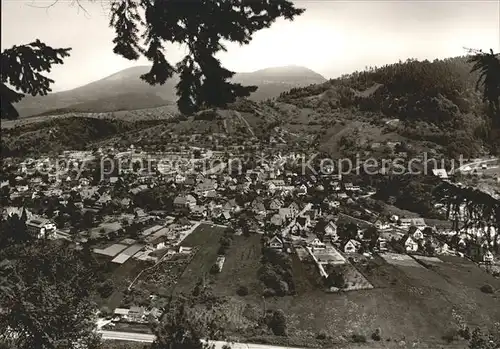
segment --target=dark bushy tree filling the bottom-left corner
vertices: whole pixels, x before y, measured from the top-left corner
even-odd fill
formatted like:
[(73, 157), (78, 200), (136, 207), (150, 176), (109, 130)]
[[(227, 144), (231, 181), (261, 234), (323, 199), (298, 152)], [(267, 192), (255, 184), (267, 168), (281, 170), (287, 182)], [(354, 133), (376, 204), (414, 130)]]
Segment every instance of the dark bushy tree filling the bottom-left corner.
[(19, 349), (100, 348), (94, 267), (69, 244), (39, 240), (0, 256), (0, 333)]

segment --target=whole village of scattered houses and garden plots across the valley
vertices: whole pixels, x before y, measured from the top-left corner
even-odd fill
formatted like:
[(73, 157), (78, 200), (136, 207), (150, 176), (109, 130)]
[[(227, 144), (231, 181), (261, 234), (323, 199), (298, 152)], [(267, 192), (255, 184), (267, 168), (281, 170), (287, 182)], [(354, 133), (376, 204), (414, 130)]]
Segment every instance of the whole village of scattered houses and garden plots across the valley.
[[(161, 317), (169, 297), (200, 283), (222, 296), (257, 292), (260, 303), (391, 287), (398, 281), (373, 274), (386, 266), (458, 263), (498, 278), (494, 227), (457, 231), (452, 221), (379, 212), (366, 205), (376, 190), (360, 176), (316, 172), (284, 150), (258, 161), (242, 151), (175, 150), (4, 161), (4, 215), (40, 239), (91, 249), (99, 262), (103, 330), (147, 331), (141, 326)], [(449, 180), (445, 170), (433, 173)]]

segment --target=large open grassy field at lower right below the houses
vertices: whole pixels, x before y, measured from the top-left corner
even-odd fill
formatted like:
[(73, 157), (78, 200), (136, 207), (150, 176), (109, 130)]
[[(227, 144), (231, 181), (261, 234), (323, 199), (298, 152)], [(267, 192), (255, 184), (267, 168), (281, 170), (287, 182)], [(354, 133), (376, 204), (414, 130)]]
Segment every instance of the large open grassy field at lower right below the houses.
[[(292, 267), (297, 295), (267, 298), (264, 303), (251, 293), (243, 300), (253, 316), (261, 314), (264, 308), (283, 309), (291, 343), (299, 343), (304, 338), (310, 338), (313, 343), (320, 331), (336, 338), (354, 333), (369, 338), (380, 328), (388, 348), (403, 338), (408, 347), (413, 341), (424, 341), (427, 344), (419, 342), (417, 347), (447, 348), (450, 346), (442, 336), (455, 325), (453, 312), (463, 315), (472, 327), (491, 325), (500, 319), (497, 296), (479, 290), (485, 283), (500, 287), (498, 280), (463, 259), (435, 264), (431, 269), (420, 264), (418, 267), (391, 265), (377, 257), (355, 265), (374, 289), (327, 294), (317, 287), (319, 279), (315, 278), (314, 266), (294, 256)], [(231, 297), (231, 302), (236, 302), (233, 301), (236, 298)], [(241, 301), (232, 305), (242, 311), (239, 317), (233, 317), (239, 326), (244, 322), (241, 316), (245, 321), (251, 320), (241, 310), (244, 309)], [(389, 338), (391, 342), (386, 342)], [(460, 348), (462, 344), (454, 343), (451, 347)]]

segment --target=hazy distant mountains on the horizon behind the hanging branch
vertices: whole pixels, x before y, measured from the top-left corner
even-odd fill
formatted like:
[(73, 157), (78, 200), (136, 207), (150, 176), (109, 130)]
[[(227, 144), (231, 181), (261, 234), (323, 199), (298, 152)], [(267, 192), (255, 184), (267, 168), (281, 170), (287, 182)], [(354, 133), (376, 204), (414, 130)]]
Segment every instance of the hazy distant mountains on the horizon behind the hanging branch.
[[(178, 76), (167, 80), (165, 85), (151, 86), (139, 78), (149, 69), (149, 66), (132, 67), (73, 90), (43, 97), (27, 96), (16, 104), (16, 108), (21, 117), (26, 117), (70, 111), (134, 110), (174, 104), (177, 100), (175, 86), (179, 81)], [(233, 80), (245, 85), (257, 85), (259, 89), (251, 97), (254, 100), (277, 97), (293, 87), (326, 81), (312, 70), (295, 66), (236, 74)]]

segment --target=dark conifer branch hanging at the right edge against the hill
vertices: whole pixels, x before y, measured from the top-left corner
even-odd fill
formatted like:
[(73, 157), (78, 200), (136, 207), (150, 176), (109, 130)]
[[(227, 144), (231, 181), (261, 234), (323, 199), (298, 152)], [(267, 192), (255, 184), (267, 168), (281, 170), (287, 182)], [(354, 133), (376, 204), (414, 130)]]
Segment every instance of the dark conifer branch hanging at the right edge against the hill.
[(472, 51), (475, 54), (468, 60), (473, 63), (471, 72), (478, 72), (476, 88), (483, 88), (483, 100), (488, 103), (492, 115), (496, 116), (493, 120), (500, 125), (500, 54), (482, 51)]

